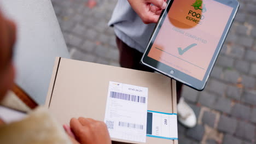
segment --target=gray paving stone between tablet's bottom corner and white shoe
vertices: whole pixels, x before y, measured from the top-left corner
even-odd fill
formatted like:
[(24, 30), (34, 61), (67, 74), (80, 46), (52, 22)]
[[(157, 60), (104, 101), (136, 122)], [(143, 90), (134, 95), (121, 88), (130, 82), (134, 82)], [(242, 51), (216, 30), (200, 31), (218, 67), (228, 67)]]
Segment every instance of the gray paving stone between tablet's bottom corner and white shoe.
[(188, 86), (183, 87), (182, 97), (185, 98), (186, 100), (196, 103), (198, 96), (199, 96), (199, 92), (196, 91), (195, 89), (192, 89)]

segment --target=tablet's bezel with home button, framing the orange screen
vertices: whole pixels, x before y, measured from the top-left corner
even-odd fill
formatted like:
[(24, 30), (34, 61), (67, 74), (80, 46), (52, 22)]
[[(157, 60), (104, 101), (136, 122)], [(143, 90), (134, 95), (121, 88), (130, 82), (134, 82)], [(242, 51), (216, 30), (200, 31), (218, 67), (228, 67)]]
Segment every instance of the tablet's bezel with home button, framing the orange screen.
[[(162, 13), (160, 15), (160, 18), (159, 18), (159, 21), (156, 24), (154, 32), (153, 32), (153, 34), (152, 34), (152, 36), (149, 40), (149, 44), (147, 46), (147, 49), (143, 54), (143, 57), (141, 59), (141, 63), (144, 64), (144, 65), (147, 65), (148, 67), (150, 67), (150, 68), (152, 68), (156, 71), (158, 71), (161, 74), (164, 74), (168, 77), (171, 77), (174, 80), (180, 81), (180, 82), (184, 83), (185, 85), (196, 89), (197, 91), (202, 91), (205, 88), (208, 77), (210, 76), (211, 71), (213, 69), (213, 66), (216, 63), (216, 59), (219, 55), (220, 50), (222, 49), (223, 43), (226, 39), (226, 35), (228, 35), (229, 29), (232, 25), (232, 22), (234, 21), (235, 15), (237, 13), (237, 10), (238, 10), (240, 4), (236, 0), (229, 0), (229, 1), (213, 0), (213, 1), (225, 4), (225, 5), (228, 5), (228, 6), (232, 7), (233, 10), (232, 10), (232, 13), (229, 17), (228, 22), (226, 23), (225, 29), (222, 33), (222, 37), (220, 37), (219, 43), (216, 47), (216, 50), (213, 53), (213, 57), (211, 59), (210, 64), (208, 65), (205, 76), (203, 77), (203, 80), (200, 81), (200, 80), (196, 79), (195, 77), (192, 77), (188, 74), (183, 73), (182, 71), (179, 71), (179, 70), (177, 70), (175, 68), (172, 68), (172, 67), (170, 67), (170, 66), (168, 66), (164, 63), (156, 61), (153, 58), (148, 57), (148, 53), (151, 50), (152, 45), (154, 44), (155, 38), (159, 33), (159, 30), (162, 26), (162, 23), (164, 22), (165, 18), (167, 17), (168, 11), (170, 10), (173, 1), (174, 0), (169, 0), (167, 2), (167, 8), (162, 11)], [(174, 70), (173, 74), (170, 73), (171, 70)]]

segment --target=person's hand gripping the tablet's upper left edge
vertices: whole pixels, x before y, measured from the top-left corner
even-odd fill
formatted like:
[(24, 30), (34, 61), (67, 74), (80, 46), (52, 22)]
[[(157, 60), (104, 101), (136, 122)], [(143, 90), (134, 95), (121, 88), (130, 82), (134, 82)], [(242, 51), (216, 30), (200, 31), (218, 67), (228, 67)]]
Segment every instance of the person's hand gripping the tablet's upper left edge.
[[(141, 17), (146, 24), (158, 22), (163, 9), (166, 8), (167, 0), (127, 0), (132, 9)], [(152, 5), (153, 4), (153, 5)]]

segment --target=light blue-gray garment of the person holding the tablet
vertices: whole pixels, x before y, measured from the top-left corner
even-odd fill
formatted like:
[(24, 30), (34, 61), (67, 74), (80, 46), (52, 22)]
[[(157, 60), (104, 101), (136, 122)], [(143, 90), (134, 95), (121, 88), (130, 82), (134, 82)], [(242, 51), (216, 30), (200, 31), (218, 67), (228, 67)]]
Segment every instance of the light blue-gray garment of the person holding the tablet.
[(118, 0), (108, 25), (114, 26), (115, 34), (125, 44), (143, 53), (155, 27), (155, 23), (144, 24), (127, 0)]

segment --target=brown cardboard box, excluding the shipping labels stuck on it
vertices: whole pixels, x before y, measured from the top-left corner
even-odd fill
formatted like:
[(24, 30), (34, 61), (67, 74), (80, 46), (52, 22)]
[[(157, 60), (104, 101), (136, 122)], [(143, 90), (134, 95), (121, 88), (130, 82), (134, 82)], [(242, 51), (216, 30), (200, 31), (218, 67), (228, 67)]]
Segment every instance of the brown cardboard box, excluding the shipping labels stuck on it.
[[(177, 113), (176, 81), (164, 75), (59, 57), (55, 61), (46, 106), (61, 124), (69, 123), (72, 117), (104, 121), (109, 81), (147, 87), (148, 110)], [(146, 143), (178, 143), (156, 137), (146, 139)]]

